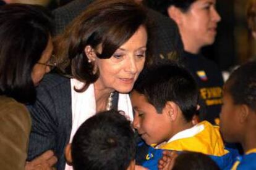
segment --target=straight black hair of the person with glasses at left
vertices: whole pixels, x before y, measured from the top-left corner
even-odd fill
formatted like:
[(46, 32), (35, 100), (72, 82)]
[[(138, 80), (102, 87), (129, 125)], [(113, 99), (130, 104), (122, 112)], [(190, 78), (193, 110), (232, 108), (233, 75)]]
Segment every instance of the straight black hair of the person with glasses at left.
[(35, 100), (32, 70), (51, 35), (51, 12), (41, 6), (0, 7), (0, 95), (18, 102)]

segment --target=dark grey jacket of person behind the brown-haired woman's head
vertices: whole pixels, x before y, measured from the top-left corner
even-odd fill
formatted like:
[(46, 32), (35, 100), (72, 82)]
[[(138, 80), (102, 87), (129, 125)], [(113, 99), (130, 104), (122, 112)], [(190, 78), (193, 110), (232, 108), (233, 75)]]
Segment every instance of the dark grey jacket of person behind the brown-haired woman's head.
[[(66, 6), (59, 7), (53, 11), (54, 15), (54, 34), (61, 33), (64, 28), (77, 15), (79, 15), (93, 0), (75, 0)], [(151, 43), (155, 59), (166, 58), (176, 59), (177, 54), (182, 55), (183, 44), (176, 23), (168, 17), (147, 9), (151, 24)]]

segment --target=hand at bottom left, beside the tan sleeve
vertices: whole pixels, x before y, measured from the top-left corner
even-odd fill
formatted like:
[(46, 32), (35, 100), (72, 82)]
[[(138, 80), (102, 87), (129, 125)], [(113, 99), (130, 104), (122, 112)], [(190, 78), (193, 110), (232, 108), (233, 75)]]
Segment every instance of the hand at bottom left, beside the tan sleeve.
[(58, 161), (52, 150), (44, 152), (32, 161), (26, 162), (25, 170), (50, 170), (55, 169), (53, 166)]

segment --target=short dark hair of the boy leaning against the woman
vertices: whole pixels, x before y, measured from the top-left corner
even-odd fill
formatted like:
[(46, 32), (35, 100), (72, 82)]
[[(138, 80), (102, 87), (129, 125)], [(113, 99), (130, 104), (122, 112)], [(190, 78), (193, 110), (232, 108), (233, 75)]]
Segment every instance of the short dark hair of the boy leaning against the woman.
[(170, 60), (145, 68), (137, 79), (134, 90), (145, 95), (148, 102), (161, 113), (168, 101), (181, 108), (187, 121), (195, 115), (198, 102), (198, 88), (189, 71)]

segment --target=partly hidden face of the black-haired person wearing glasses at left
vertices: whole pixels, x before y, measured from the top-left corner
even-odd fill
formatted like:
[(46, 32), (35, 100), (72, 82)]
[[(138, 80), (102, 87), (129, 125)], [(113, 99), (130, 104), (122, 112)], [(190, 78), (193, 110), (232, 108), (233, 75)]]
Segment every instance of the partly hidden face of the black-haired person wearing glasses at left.
[(41, 58), (35, 64), (31, 73), (32, 81), (35, 86), (39, 84), (39, 82), (41, 81), (45, 73), (48, 73), (49, 71), (51, 71), (51, 69), (47, 64), (49, 62), (49, 59), (51, 58), (52, 52), (53, 52), (53, 41), (51, 38), (49, 38), (45, 51), (43, 51)]

